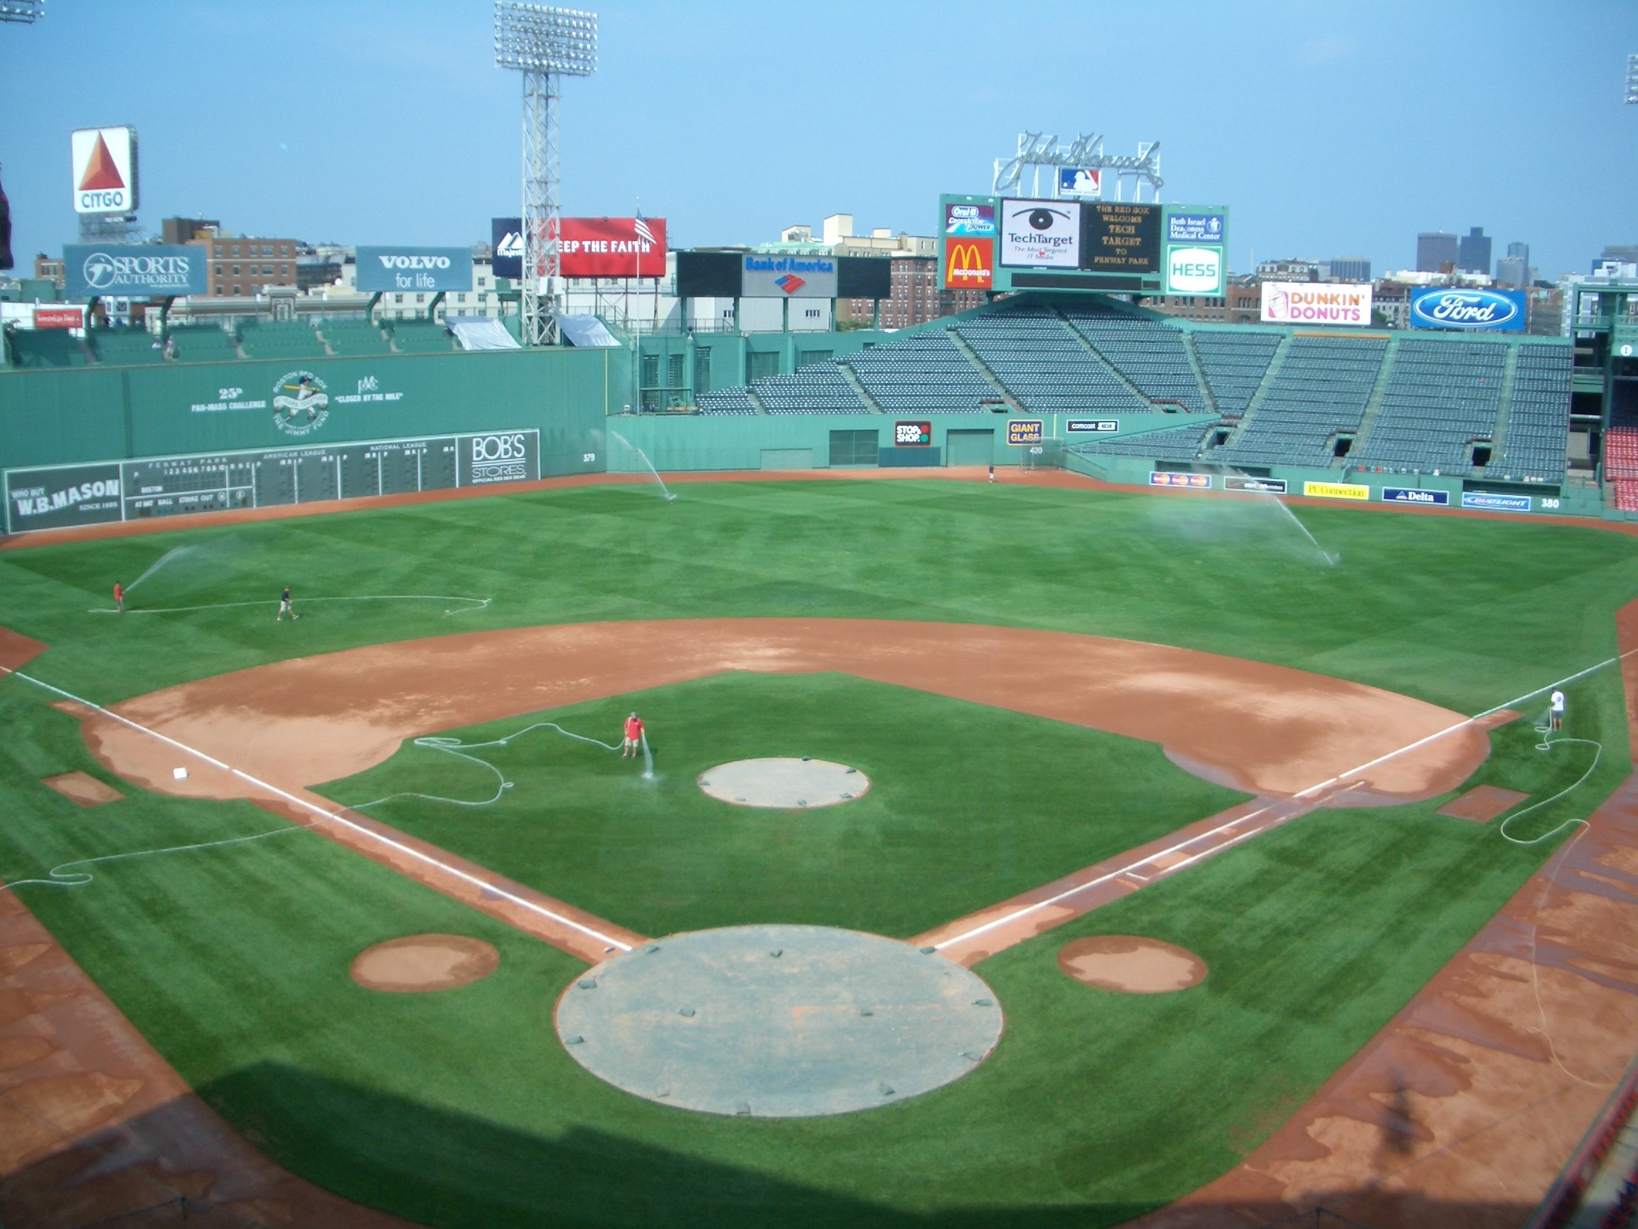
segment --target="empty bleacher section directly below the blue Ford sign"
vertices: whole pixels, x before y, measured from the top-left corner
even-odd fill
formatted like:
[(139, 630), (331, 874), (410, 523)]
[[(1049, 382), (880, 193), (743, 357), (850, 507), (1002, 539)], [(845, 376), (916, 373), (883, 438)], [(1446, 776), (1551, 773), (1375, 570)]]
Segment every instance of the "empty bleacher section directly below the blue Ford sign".
[(1376, 423), (1348, 464), (1473, 474), (1474, 442), (1495, 438), (1505, 367), (1507, 346), (1402, 339)]

